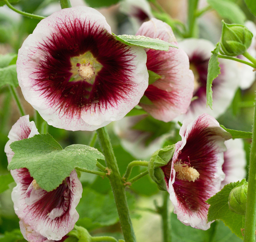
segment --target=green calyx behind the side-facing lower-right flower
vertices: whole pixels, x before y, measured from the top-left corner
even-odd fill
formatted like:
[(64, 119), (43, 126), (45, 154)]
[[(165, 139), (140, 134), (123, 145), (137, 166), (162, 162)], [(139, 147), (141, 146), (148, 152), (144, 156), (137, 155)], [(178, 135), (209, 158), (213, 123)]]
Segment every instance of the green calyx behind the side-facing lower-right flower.
[(149, 176), (157, 184), (160, 190), (167, 190), (164, 173), (160, 167), (166, 166), (173, 158), (175, 145), (165, 146), (153, 153), (148, 164)]

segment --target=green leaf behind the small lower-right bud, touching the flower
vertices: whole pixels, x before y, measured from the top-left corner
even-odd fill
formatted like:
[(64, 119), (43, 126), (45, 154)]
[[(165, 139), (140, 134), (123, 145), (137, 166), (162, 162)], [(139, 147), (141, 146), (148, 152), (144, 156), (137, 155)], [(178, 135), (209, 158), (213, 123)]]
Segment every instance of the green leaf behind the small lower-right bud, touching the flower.
[(210, 197), (206, 202), (210, 204), (208, 221), (220, 219), (239, 238), (243, 238), (241, 228), (244, 228), (244, 216), (231, 212), (228, 207), (228, 196), (231, 190), (237, 187), (240, 182), (226, 185), (220, 192)]

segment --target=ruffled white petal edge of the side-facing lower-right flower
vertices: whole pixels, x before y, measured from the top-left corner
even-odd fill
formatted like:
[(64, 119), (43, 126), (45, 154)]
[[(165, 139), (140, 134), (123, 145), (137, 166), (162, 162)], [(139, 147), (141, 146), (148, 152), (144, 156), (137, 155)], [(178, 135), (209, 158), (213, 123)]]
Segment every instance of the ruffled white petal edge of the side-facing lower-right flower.
[[(225, 174), (222, 171), (222, 164), (224, 162), (223, 152), (226, 151), (224, 140), (231, 138), (231, 135), (228, 132), (226, 132), (223, 128), (220, 127), (220, 124), (218, 123), (217, 120), (215, 120), (213, 117), (211, 117), (208, 114), (199, 115), (194, 121), (188, 120), (188, 119), (184, 120), (179, 132), (181, 136), (181, 141), (176, 143), (176, 149), (173, 155), (173, 161), (177, 160), (179, 156), (179, 152), (184, 148), (187, 142), (187, 138), (198, 120), (200, 121), (199, 123), (204, 122), (204, 126), (216, 127), (219, 133), (218, 136), (215, 136), (216, 139), (212, 139), (212, 142), (214, 142), (214, 145), (218, 147), (218, 152), (219, 152), (215, 154), (218, 160), (218, 163), (216, 164), (217, 171), (214, 174), (214, 179), (212, 180), (212, 184), (209, 184), (209, 186), (211, 186), (211, 192), (212, 192), (211, 195), (214, 195), (220, 190), (221, 182), (225, 178)], [(209, 229), (210, 224), (212, 222), (208, 223), (207, 214), (205, 215), (205, 217), (202, 217), (201, 215), (199, 215), (198, 212), (191, 212), (192, 214), (189, 214), (187, 211), (185, 211), (182, 208), (182, 206), (180, 206), (180, 202), (173, 188), (173, 184), (175, 182), (174, 163), (172, 163), (171, 174), (173, 174), (173, 179), (169, 180), (168, 192), (170, 193), (170, 200), (174, 206), (174, 213), (177, 214), (177, 218), (185, 225), (190, 225), (191, 227), (199, 228), (203, 230)]]

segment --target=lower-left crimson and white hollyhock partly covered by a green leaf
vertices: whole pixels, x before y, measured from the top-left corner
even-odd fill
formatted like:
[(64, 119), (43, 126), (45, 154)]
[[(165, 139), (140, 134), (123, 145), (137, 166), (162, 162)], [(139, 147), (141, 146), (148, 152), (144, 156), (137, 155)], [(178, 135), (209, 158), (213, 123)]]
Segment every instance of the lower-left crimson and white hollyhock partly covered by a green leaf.
[[(8, 135), (10, 140), (4, 148), (8, 162), (14, 155), (10, 143), (36, 134), (39, 133), (35, 123), (29, 121), (29, 116), (21, 117), (13, 125)], [(61, 240), (74, 228), (79, 218), (76, 206), (82, 196), (82, 184), (75, 170), (58, 188), (50, 192), (37, 185), (27, 168), (12, 170), (11, 174), (17, 184), (12, 191), (14, 210), (21, 220), (21, 231), (27, 234), (28, 241)], [(42, 240), (33, 241), (34, 237)]]

